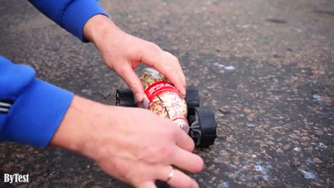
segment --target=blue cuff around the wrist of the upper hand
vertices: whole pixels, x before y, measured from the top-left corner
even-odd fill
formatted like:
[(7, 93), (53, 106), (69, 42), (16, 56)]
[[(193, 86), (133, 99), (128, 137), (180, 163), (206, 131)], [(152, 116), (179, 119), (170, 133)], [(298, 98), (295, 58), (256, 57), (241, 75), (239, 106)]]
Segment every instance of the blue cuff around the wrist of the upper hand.
[[(63, 14), (62, 26), (64, 29), (77, 36), (81, 41), (88, 42), (84, 38), (84, 25), (95, 15), (106, 15), (97, 1), (77, 0), (73, 1)], [(108, 17), (108, 15), (106, 15)]]

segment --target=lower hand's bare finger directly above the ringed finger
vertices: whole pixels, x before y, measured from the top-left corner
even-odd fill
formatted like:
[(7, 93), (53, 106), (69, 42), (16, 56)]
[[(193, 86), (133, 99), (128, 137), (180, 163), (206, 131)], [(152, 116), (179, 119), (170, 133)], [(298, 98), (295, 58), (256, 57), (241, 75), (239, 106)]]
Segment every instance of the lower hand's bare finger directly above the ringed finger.
[(182, 150), (181, 148), (177, 148), (171, 162), (180, 169), (184, 169), (185, 171), (189, 171), (191, 173), (198, 173), (202, 171), (204, 166), (203, 159), (200, 156), (192, 152)]

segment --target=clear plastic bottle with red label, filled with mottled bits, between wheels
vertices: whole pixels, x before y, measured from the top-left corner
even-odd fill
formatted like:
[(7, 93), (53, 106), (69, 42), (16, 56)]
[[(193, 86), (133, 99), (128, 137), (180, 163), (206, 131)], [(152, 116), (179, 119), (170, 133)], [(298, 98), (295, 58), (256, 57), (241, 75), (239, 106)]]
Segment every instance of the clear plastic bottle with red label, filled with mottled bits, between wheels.
[(145, 90), (143, 107), (159, 116), (170, 118), (188, 133), (186, 101), (177, 88), (154, 68), (145, 68), (140, 78)]

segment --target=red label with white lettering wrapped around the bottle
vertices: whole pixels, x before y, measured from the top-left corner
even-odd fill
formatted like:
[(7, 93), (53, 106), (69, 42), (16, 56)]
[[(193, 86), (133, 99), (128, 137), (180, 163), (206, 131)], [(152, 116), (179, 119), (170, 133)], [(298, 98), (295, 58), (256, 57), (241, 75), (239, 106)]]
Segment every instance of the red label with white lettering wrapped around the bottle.
[(148, 88), (145, 90), (145, 95), (151, 102), (154, 97), (157, 97), (157, 95), (166, 91), (173, 91), (178, 93), (177, 89), (175, 88), (175, 86), (173, 86), (173, 84), (170, 84), (167, 81), (157, 81), (154, 84), (148, 86)]

